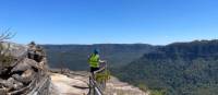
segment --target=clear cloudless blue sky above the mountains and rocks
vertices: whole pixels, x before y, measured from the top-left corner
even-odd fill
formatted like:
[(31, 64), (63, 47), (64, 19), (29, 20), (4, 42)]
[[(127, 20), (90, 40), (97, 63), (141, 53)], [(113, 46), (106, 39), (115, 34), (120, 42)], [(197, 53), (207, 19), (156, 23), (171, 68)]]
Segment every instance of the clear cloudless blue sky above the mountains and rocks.
[(15, 43), (134, 44), (216, 39), (217, 0), (0, 0)]

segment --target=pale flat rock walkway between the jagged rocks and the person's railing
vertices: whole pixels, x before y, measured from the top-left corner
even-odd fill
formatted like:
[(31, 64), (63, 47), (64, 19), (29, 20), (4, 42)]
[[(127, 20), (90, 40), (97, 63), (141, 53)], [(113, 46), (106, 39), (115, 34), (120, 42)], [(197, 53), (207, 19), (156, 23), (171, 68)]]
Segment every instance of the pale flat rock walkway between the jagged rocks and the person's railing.
[(63, 74), (51, 74), (51, 85), (56, 91), (56, 95), (87, 95), (88, 85), (84, 80), (86, 79), (80, 75), (68, 78)]

